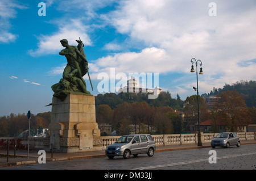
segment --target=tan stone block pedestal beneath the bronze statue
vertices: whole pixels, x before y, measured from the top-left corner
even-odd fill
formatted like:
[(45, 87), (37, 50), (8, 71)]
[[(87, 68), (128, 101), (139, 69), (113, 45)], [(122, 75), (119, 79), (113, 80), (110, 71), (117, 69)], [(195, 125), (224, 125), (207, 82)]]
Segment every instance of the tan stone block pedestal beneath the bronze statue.
[(102, 150), (93, 95), (69, 94), (63, 101), (53, 97), (45, 145), (62, 153)]

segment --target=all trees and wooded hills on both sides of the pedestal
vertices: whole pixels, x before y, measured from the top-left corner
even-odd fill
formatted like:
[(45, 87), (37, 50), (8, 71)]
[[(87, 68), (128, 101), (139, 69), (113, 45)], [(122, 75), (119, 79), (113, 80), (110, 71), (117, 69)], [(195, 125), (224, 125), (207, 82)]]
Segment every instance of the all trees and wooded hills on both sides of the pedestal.
[[(247, 88), (242, 88), (242, 87)], [(236, 89), (232, 90), (234, 87)], [(249, 88), (250, 87), (250, 88)], [(230, 90), (229, 90), (230, 89)], [(240, 91), (239, 91), (240, 90)], [(213, 132), (218, 132), (222, 122), (230, 131), (237, 131), (246, 124), (256, 124), (255, 81), (241, 81), (225, 85), (223, 89), (213, 89), (209, 94), (199, 96), (200, 121), (213, 120)], [(216, 95), (213, 107), (205, 103), (205, 96)], [(184, 101), (177, 94), (172, 98), (169, 91), (148, 99), (146, 94), (123, 93), (98, 94), (95, 96), (96, 121), (99, 125), (112, 124), (118, 134), (131, 131), (137, 133), (171, 134), (188, 131), (189, 125), (197, 123), (197, 95), (188, 96)], [(246, 102), (253, 98), (253, 104)], [(253, 105), (253, 106), (250, 106)], [(184, 120), (181, 115), (184, 113)], [(51, 112), (31, 115), (31, 132), (48, 128)], [(102, 123), (102, 124), (101, 124)], [(27, 116), (23, 114), (0, 117), (0, 136), (18, 136), (28, 129)]]

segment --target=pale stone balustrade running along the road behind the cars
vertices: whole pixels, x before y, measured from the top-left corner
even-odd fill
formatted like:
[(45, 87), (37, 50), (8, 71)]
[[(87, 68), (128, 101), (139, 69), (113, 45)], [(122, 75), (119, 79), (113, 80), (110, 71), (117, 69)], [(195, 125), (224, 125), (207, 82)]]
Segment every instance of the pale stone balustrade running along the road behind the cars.
[[(201, 141), (210, 142), (214, 136), (218, 133), (201, 133)], [(256, 132), (239, 132), (237, 135), (240, 140), (256, 140)], [(102, 136), (102, 149), (104, 150), (108, 145), (113, 144), (121, 136)], [(179, 144), (197, 144), (198, 136), (197, 133), (192, 134), (156, 134), (152, 135), (155, 140), (156, 146), (164, 145), (179, 145)], [(28, 137), (0, 137), (0, 140), (18, 140), (22, 139), (23, 145), (28, 144)], [(44, 138), (32, 137), (30, 138), (30, 149), (40, 150), (44, 149)]]

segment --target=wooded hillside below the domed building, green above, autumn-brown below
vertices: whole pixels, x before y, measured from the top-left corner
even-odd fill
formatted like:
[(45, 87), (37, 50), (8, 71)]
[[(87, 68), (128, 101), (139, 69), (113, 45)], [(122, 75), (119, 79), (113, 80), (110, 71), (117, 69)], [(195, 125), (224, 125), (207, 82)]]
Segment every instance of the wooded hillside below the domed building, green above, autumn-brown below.
[[(183, 100), (177, 94), (173, 99), (169, 91), (156, 99), (146, 94), (121, 92), (106, 93), (95, 97), (97, 123), (111, 123), (118, 134), (135, 133), (170, 134), (180, 133), (182, 120), (174, 110), (183, 110)], [(154, 127), (154, 129), (153, 129)]]

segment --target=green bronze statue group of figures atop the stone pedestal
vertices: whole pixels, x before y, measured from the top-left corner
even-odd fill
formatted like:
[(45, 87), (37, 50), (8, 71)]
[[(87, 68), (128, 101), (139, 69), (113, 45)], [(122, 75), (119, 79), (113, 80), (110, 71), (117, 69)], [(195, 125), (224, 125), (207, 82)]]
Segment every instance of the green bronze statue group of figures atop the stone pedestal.
[[(68, 61), (63, 71), (63, 78), (60, 79), (59, 83), (52, 86), (53, 96), (60, 100), (64, 100), (71, 92), (82, 92), (83, 94), (90, 95), (90, 92), (86, 89), (85, 80), (82, 78), (87, 73), (90, 80), (84, 44), (80, 38), (76, 41), (78, 43), (77, 47), (69, 45), (66, 39), (60, 40), (61, 45), (65, 49), (61, 50), (59, 54), (65, 56)], [(90, 85), (92, 86), (91, 81)]]

